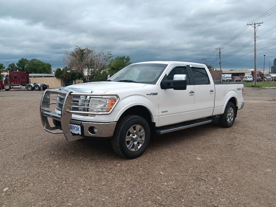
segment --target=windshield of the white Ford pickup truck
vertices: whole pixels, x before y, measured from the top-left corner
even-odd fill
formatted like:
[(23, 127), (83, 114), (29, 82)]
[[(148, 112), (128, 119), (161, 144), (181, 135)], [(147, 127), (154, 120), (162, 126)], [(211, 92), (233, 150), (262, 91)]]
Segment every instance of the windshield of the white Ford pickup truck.
[(156, 84), (167, 64), (132, 64), (117, 72), (108, 81), (137, 82)]

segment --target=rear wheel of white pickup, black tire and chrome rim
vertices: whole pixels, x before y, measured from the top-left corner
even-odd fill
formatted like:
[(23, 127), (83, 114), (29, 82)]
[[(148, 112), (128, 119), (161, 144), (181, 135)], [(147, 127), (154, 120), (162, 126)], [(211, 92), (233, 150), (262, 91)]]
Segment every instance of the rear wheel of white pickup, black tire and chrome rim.
[[(233, 109), (233, 112), (232, 112), (231, 108)], [(229, 113), (228, 110), (230, 110), (230, 112), (232, 112), (232, 113)], [(230, 116), (230, 114), (231, 114), (231, 116)], [(221, 127), (229, 128), (234, 124), (235, 118), (236, 118), (236, 107), (232, 102), (228, 102), (226, 104), (223, 114), (221, 115), (221, 117), (218, 120), (218, 123)]]

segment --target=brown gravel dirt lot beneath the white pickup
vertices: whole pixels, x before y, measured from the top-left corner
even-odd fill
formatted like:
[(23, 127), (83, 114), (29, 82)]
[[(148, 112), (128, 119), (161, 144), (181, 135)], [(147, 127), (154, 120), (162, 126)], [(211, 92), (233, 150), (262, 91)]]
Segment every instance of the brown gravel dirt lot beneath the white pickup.
[(165, 134), (135, 160), (44, 132), (41, 94), (0, 91), (1, 207), (276, 206), (276, 89), (246, 88), (232, 128)]

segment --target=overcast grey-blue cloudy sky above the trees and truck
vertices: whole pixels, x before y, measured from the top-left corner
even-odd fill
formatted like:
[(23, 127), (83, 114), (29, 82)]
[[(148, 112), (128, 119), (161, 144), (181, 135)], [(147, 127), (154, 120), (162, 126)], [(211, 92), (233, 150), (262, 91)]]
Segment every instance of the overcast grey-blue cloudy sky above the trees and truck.
[[(58, 58), (77, 45), (112, 51), (113, 56), (129, 55), (132, 62), (211, 58), (219, 68), (214, 49), (275, 5), (275, 0), (2, 0), (0, 62), (38, 58), (54, 69), (63, 67)], [(260, 20), (264, 24), (257, 35), (275, 28), (260, 35), (257, 49), (276, 44), (275, 19), (276, 13)], [(228, 61), (254, 50), (252, 42), (231, 55), (253, 35), (249, 26), (224, 46), (223, 69), (254, 67), (254, 52)], [(263, 55), (268, 68), (267, 60), (276, 58), (276, 45), (258, 50), (257, 68), (263, 67)]]

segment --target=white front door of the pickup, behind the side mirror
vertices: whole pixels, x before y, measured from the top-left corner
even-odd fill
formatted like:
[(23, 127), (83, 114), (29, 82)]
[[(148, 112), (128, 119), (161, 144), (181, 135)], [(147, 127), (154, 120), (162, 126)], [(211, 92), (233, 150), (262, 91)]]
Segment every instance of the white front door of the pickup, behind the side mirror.
[[(170, 70), (170, 69), (169, 69)], [(171, 72), (163, 80), (173, 80), (174, 75), (185, 74), (187, 77), (186, 90), (161, 89), (159, 94), (159, 123), (165, 126), (194, 119), (194, 90), (191, 85), (191, 75), (186, 66), (172, 66)]]

